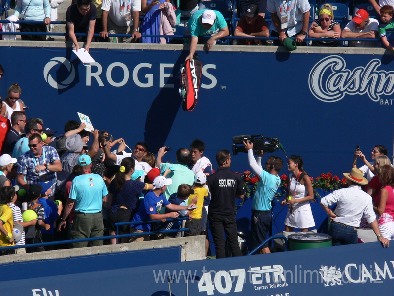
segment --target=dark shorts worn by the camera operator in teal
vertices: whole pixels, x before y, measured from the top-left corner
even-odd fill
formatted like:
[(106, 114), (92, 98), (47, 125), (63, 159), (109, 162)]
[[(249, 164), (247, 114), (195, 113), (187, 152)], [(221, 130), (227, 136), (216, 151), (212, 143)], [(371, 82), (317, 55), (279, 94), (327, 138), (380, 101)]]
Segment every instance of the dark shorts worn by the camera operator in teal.
[[(269, 235), (269, 230), (272, 225), (272, 215), (271, 213), (258, 213), (253, 211), (251, 223), (251, 238), (252, 238), (252, 249), (260, 245)], [(268, 243), (263, 245), (262, 248), (267, 248)]]

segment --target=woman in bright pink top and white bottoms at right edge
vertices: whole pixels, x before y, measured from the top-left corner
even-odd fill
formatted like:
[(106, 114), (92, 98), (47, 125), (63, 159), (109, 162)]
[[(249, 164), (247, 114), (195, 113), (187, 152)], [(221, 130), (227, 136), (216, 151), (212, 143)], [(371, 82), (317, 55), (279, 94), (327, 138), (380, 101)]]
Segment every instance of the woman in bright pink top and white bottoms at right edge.
[(394, 169), (384, 165), (379, 173), (383, 188), (373, 209), (378, 214), (379, 230), (384, 238), (394, 239)]

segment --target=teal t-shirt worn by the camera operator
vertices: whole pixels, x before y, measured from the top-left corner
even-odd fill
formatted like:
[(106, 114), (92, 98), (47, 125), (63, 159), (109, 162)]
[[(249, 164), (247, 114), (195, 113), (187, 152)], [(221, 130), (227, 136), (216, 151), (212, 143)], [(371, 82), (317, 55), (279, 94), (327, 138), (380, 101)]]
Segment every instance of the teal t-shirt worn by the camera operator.
[(280, 177), (262, 171), (260, 182), (253, 197), (252, 209), (256, 211), (270, 211), (271, 201), (280, 185)]

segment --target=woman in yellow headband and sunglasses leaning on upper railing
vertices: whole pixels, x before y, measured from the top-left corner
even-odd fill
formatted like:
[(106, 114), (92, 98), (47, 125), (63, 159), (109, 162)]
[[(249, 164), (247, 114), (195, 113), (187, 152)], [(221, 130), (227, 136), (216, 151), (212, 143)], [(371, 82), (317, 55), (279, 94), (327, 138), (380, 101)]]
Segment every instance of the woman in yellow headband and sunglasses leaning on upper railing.
[[(311, 38), (337, 39), (341, 37), (341, 26), (334, 21), (334, 12), (329, 4), (324, 4), (319, 11), (319, 18), (309, 28)], [(340, 46), (339, 41), (312, 41), (312, 46)]]

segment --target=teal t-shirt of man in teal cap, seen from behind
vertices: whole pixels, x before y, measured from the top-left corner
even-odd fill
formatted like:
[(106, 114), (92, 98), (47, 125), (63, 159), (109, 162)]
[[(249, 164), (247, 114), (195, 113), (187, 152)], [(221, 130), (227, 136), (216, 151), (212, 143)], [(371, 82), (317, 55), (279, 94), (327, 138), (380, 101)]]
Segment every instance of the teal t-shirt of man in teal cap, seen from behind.
[(108, 194), (104, 180), (97, 174), (80, 175), (72, 180), (70, 199), (75, 199), (75, 212), (97, 213), (102, 198)]

